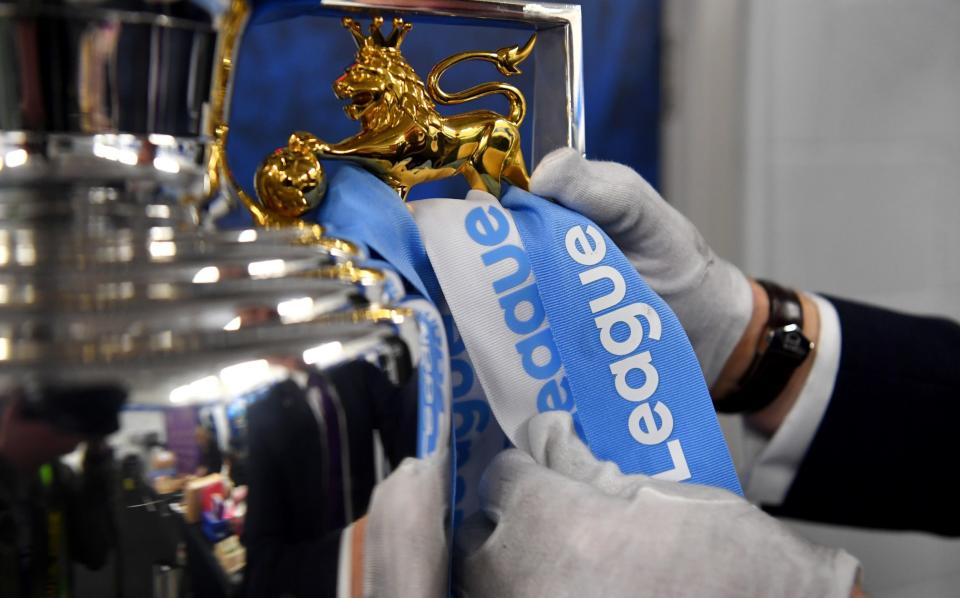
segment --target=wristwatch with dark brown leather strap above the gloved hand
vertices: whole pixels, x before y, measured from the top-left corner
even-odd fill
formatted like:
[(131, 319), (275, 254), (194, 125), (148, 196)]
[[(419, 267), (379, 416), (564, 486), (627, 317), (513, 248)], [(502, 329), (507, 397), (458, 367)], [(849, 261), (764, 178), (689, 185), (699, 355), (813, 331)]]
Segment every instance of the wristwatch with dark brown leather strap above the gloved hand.
[(770, 315), (764, 340), (736, 391), (714, 404), (720, 413), (754, 413), (776, 399), (793, 372), (813, 351), (803, 334), (803, 308), (796, 291), (766, 280), (757, 280), (766, 291)]

